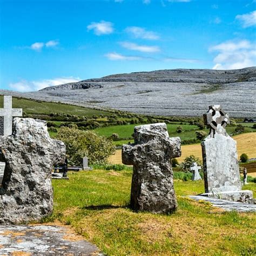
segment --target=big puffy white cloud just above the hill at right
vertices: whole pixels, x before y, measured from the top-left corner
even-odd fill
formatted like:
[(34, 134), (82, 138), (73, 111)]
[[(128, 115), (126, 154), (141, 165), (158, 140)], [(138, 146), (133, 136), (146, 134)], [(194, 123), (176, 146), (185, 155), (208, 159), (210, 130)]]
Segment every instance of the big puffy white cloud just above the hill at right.
[(213, 69), (242, 69), (256, 65), (255, 44), (248, 40), (227, 41), (209, 50), (218, 52), (213, 59)]

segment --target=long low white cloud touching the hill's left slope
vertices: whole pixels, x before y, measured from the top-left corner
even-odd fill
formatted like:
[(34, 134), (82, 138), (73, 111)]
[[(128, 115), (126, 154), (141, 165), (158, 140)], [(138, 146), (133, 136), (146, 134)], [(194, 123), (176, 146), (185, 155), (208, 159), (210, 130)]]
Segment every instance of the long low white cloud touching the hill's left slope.
[(66, 83), (79, 82), (80, 78), (74, 77), (58, 77), (54, 79), (42, 79), (37, 81), (21, 80), (17, 83), (10, 83), (9, 87), (12, 90), (19, 92), (38, 91), (48, 86), (55, 86)]

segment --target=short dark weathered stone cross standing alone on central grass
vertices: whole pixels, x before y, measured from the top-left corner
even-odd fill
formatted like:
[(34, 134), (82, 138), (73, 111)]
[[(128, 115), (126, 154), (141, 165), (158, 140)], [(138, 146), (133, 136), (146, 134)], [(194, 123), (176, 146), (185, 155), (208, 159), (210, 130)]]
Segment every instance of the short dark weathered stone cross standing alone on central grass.
[(177, 208), (171, 159), (180, 157), (181, 140), (169, 138), (165, 123), (134, 128), (134, 144), (123, 145), (122, 161), (133, 165), (131, 208), (171, 213)]

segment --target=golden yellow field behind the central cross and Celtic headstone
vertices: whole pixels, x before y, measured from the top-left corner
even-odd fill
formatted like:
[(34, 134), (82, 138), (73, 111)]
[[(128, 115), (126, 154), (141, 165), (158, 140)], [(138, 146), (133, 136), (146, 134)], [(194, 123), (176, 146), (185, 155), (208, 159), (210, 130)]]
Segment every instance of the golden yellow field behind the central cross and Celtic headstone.
[[(238, 157), (242, 153), (248, 154), (249, 158), (256, 158), (256, 133), (243, 133), (233, 137), (237, 141)], [(183, 145), (181, 146), (181, 157), (177, 158), (179, 163), (183, 161), (187, 156), (193, 154), (196, 157), (202, 159), (202, 151), (200, 144)], [(121, 164), (122, 156), (121, 150), (117, 150), (116, 153), (110, 157), (110, 163)]]

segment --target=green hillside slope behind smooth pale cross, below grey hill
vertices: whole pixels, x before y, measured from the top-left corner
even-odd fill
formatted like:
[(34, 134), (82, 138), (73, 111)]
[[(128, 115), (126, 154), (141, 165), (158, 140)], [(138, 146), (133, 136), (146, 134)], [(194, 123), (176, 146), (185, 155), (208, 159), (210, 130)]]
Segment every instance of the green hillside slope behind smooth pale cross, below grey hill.
[[(0, 96), (0, 108), (3, 107), (3, 96)], [(23, 109), (26, 114), (50, 114), (50, 113), (65, 113), (65, 114), (76, 114), (78, 116), (91, 117), (93, 115), (99, 115), (100, 113), (109, 114), (106, 111), (89, 109), (86, 107), (51, 103), (51, 102), (40, 102), (35, 100), (15, 98), (12, 97), (12, 107)]]

